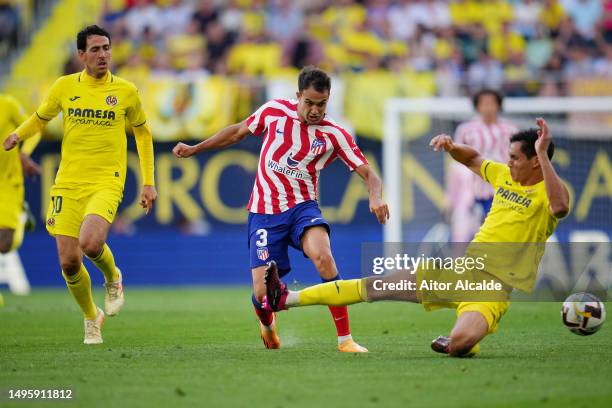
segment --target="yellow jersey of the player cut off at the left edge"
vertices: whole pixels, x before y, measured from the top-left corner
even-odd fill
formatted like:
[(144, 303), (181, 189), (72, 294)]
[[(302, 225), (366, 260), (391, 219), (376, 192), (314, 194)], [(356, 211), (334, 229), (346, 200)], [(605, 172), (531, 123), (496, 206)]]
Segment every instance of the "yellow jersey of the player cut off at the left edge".
[[(27, 119), (23, 108), (17, 99), (9, 95), (0, 94), (0, 137), (4, 140), (21, 122)], [(38, 143), (38, 138), (29, 139), (28, 154)], [(24, 146), (25, 147), (25, 146)], [(21, 168), (20, 149), (8, 152), (0, 148), (0, 186), (20, 186), (23, 184), (23, 170)]]

